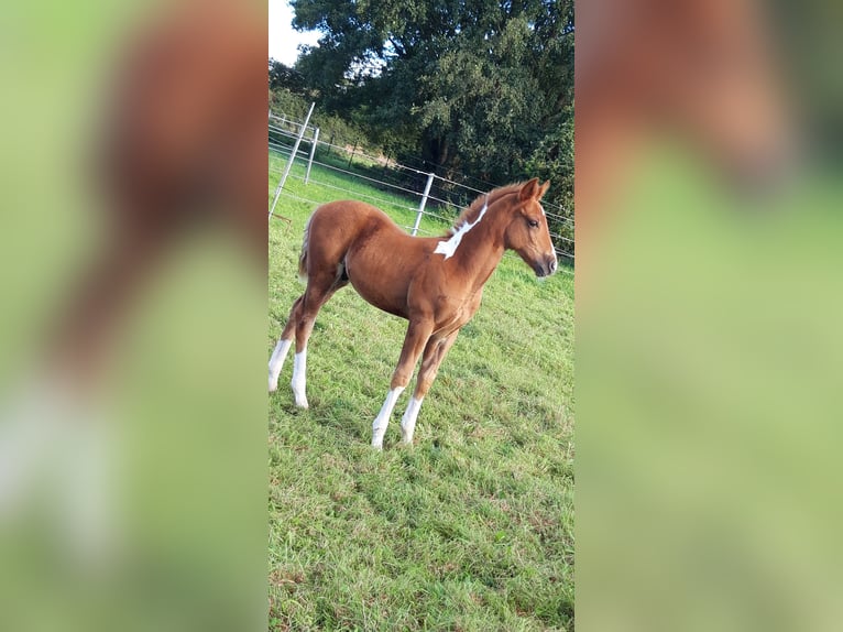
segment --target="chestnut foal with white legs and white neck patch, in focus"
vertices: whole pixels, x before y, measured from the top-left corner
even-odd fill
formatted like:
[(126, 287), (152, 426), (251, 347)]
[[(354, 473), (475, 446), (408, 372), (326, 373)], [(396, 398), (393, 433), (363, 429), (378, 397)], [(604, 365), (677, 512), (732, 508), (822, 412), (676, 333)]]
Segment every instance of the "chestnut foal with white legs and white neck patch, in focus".
[(320, 206), (305, 228), (299, 274), (307, 290), (289, 312), (270, 360), (270, 392), (278, 384), (284, 358), (295, 337), (293, 393), (306, 408), (307, 339), (322, 305), (349, 282), (369, 303), (409, 320), (390, 392), (372, 424), (372, 446), (381, 449), (390, 415), (421, 356), (413, 399), (401, 422), (402, 438), (413, 443), (416, 417), (439, 364), (460, 328), (480, 306), (483, 285), (504, 250), (511, 249), (536, 272), (556, 272), (556, 252), (539, 200), (550, 183), (534, 178), (480, 196), (446, 237), (410, 237), (381, 210), (360, 201)]

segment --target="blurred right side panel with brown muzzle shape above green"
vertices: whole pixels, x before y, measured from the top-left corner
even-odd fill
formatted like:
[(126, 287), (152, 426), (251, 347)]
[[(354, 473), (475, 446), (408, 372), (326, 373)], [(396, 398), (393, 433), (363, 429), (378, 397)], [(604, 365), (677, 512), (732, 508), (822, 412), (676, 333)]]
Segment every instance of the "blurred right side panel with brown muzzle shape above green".
[(582, 4), (578, 628), (837, 630), (840, 6)]

